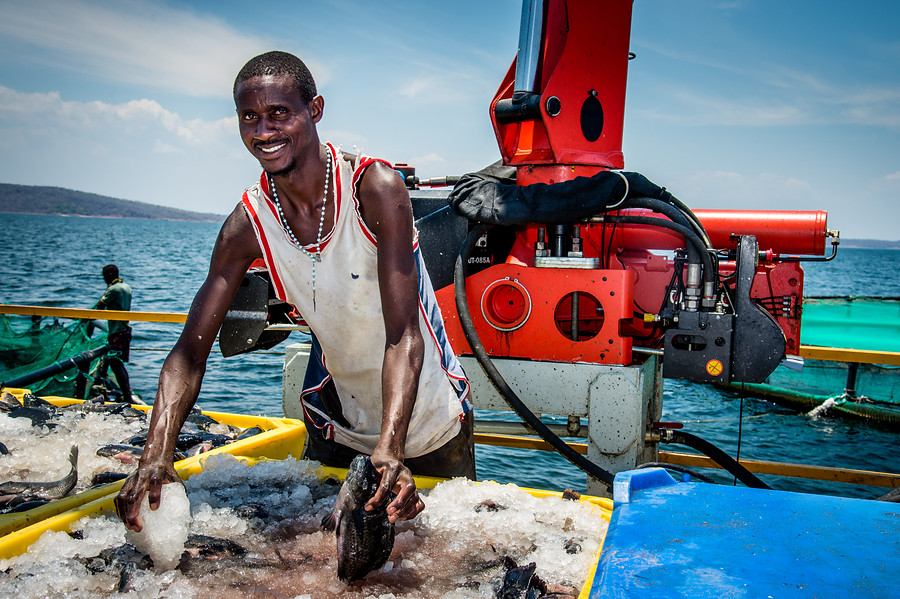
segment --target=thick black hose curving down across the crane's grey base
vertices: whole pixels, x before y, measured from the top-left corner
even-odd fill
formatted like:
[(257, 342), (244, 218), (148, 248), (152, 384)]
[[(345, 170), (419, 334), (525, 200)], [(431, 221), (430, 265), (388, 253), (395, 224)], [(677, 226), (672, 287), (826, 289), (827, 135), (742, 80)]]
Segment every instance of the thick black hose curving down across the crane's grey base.
[(557, 437), (549, 428), (547, 428), (547, 426), (541, 422), (541, 419), (535, 416), (522, 400), (519, 399), (519, 396), (516, 395), (512, 388), (510, 388), (503, 376), (494, 366), (490, 356), (488, 356), (484, 346), (481, 344), (481, 340), (478, 338), (478, 333), (475, 330), (475, 323), (472, 321), (472, 314), (469, 312), (469, 304), (466, 300), (465, 264), (468, 262), (469, 255), (472, 253), (472, 249), (475, 247), (478, 238), (489, 228), (488, 225), (479, 225), (472, 229), (469, 236), (466, 238), (463, 247), (459, 250), (459, 256), (456, 258), (456, 269), (454, 271), (453, 290), (456, 296), (456, 311), (459, 313), (459, 323), (462, 325), (466, 340), (472, 348), (472, 353), (475, 354), (475, 359), (478, 360), (481, 368), (484, 369), (484, 373), (487, 375), (488, 379), (494, 384), (494, 387), (497, 388), (497, 391), (503, 396), (503, 399), (506, 400), (506, 403), (510, 405), (519, 418), (531, 427), (541, 439), (549, 443), (553, 449), (569, 460), (573, 465), (583, 470), (588, 476), (605, 483), (608, 487), (612, 487), (612, 473), (604, 470), (569, 447), (562, 439)]

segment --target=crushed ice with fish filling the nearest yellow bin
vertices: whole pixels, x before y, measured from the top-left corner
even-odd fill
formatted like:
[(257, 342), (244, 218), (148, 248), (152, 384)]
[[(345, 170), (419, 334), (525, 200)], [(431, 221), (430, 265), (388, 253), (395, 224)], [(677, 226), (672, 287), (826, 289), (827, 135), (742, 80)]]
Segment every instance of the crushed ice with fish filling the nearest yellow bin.
[[(496, 596), (506, 557), (535, 562), (542, 579), (577, 595), (606, 531), (606, 519), (589, 503), (458, 479), (423, 492), (425, 511), (398, 524), (384, 568), (348, 585), (337, 578), (334, 536), (319, 524), (339, 484), (319, 481), (317, 468), (294, 459), (250, 466), (211, 456), (203, 473), (186, 481), (190, 533), (234, 541), (246, 553), (204, 559), (186, 552), (167, 572), (136, 568), (128, 596), (488, 599)], [(124, 526), (110, 514), (76, 528), (80, 540), (48, 532), (27, 554), (0, 560), (0, 588), (22, 597), (120, 596), (124, 566), (102, 558), (125, 542)]]

